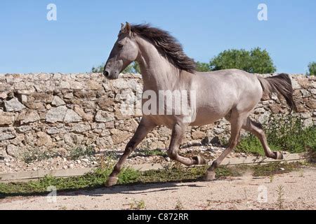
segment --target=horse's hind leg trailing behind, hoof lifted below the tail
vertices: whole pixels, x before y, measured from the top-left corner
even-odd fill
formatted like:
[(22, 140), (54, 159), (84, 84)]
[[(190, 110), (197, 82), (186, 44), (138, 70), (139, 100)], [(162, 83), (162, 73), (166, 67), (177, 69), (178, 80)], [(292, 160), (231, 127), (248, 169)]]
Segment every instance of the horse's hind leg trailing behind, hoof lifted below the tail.
[(254, 134), (258, 139), (261, 141), (263, 149), (265, 151), (265, 155), (268, 158), (273, 158), (275, 160), (282, 160), (283, 155), (280, 152), (272, 152), (268, 146), (267, 138), (265, 137), (265, 132), (263, 132), (263, 127), (261, 123), (256, 123), (254, 120), (247, 118), (242, 125), (242, 128), (246, 131), (251, 132)]

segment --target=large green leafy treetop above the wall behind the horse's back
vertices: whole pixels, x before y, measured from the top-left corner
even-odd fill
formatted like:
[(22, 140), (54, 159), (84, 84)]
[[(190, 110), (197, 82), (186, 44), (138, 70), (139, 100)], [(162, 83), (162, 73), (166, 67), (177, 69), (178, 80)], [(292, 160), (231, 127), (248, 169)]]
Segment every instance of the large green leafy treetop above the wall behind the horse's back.
[(241, 69), (250, 73), (273, 73), (275, 65), (269, 53), (260, 48), (248, 50), (224, 50), (211, 59), (209, 66), (212, 71), (221, 69)]

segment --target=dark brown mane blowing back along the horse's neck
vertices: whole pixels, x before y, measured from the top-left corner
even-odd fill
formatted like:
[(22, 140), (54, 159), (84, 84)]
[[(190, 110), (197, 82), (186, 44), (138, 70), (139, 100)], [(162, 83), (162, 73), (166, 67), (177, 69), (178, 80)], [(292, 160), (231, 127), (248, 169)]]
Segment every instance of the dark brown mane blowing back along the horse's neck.
[(185, 55), (182, 45), (169, 32), (147, 24), (131, 25), (131, 31), (150, 41), (178, 69), (195, 73), (195, 61)]

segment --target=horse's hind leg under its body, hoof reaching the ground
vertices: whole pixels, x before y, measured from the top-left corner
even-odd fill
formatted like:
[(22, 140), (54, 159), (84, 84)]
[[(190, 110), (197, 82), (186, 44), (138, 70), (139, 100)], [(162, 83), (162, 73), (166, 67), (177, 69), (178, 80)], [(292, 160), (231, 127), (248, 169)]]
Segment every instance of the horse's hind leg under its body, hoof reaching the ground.
[(204, 176), (205, 181), (212, 181), (215, 179), (215, 169), (220, 165), (220, 162), (224, 160), (224, 158), (237, 146), (240, 136), (240, 130), (242, 129), (242, 125), (244, 120), (246, 120), (247, 115), (244, 113), (237, 113), (237, 111), (233, 112), (230, 116), (230, 124), (231, 124), (231, 134), (230, 141), (228, 143), (228, 148), (226, 148), (220, 156), (213, 161), (211, 167), (207, 169), (206, 174)]

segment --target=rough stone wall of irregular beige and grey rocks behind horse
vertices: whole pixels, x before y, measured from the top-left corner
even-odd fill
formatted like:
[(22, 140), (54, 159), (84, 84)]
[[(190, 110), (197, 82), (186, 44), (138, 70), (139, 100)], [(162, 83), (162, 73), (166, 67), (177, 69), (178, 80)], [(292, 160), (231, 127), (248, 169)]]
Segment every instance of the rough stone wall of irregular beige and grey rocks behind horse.
[[(121, 106), (136, 100), (133, 96), (137, 98), (142, 80), (137, 74), (121, 76), (109, 81), (100, 73), (0, 74), (0, 155), (19, 157), (34, 150), (67, 153), (77, 146), (93, 146), (96, 151), (124, 148), (140, 113), (126, 116)], [(305, 125), (315, 125), (316, 78), (291, 77), (300, 116)], [(262, 122), (271, 113), (288, 113), (288, 107), (273, 96), (258, 104), (253, 116)], [(225, 120), (190, 127), (183, 144), (229, 131)], [(140, 147), (166, 148), (170, 134), (159, 127)]]

